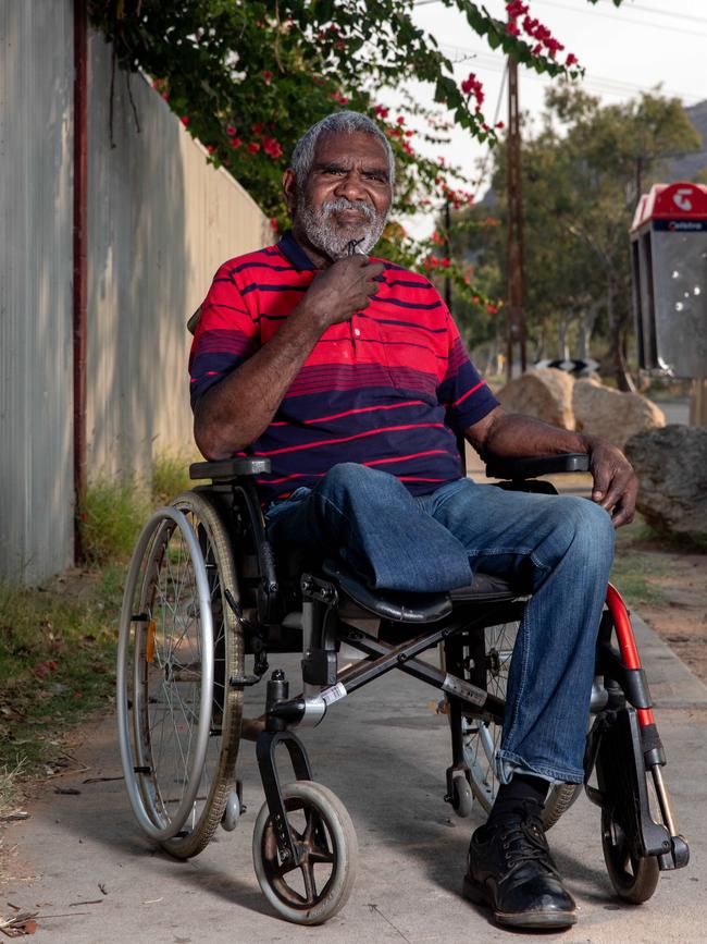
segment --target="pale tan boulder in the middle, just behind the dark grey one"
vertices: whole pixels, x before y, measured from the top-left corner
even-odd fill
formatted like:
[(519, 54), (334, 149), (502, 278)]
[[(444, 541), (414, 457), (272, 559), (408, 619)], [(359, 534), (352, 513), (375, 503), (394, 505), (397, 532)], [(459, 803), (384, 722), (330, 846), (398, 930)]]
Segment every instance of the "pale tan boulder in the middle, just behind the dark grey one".
[(596, 380), (578, 380), (572, 391), (576, 429), (600, 436), (619, 449), (646, 429), (666, 425), (662, 410), (640, 393), (622, 393)]

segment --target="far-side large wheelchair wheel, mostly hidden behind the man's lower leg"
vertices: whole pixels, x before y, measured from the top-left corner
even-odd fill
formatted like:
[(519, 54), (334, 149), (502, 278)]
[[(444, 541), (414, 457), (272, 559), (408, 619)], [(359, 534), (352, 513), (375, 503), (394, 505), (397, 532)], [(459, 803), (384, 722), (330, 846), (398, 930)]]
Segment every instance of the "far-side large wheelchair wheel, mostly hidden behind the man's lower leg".
[[(483, 659), (483, 666), (476, 666), (471, 681), (485, 686), (492, 695), (505, 700), (510, 660), (516, 645), (518, 623), (504, 623), (486, 626), (484, 629), (484, 652), (474, 653), (475, 661)], [(470, 654), (470, 653), (467, 653)], [(491, 812), (498, 792), (496, 776), (496, 752), (500, 747), (503, 725), (493, 721), (462, 718), (464, 760), (471, 775), (471, 790), (481, 808)], [(581, 784), (557, 784), (551, 786), (543, 810), (543, 823), (549, 830), (562, 813), (572, 806), (582, 790)]]

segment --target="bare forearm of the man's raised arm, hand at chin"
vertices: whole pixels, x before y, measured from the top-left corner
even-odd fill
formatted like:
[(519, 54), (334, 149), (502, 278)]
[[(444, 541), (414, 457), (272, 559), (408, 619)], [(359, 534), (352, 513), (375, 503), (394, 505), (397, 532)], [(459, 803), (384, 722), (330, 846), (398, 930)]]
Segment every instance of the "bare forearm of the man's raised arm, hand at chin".
[(207, 458), (227, 458), (265, 429), (322, 328), (299, 306), (277, 333), (199, 401), (194, 438)]

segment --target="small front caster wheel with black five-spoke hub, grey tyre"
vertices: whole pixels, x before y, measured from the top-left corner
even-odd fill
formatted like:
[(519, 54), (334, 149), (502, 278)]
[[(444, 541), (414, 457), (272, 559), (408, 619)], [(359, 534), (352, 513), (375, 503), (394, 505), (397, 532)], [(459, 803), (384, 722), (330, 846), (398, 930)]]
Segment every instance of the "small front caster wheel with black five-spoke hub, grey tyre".
[(302, 849), (298, 866), (281, 861), (268, 804), (256, 822), (252, 856), (263, 894), (296, 924), (322, 924), (344, 907), (358, 863), (354, 823), (332, 790), (313, 781), (282, 788), (287, 821)]

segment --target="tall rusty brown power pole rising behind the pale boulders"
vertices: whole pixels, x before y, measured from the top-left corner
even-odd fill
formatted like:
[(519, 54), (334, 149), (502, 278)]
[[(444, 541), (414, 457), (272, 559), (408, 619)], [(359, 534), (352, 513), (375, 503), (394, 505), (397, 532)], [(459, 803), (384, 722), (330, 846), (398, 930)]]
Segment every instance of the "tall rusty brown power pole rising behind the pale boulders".
[(523, 199), (521, 188), (520, 106), (518, 61), (508, 57), (508, 334), (506, 379), (513, 372), (513, 354), (519, 348), (521, 370), (525, 359), (525, 311), (523, 309)]

